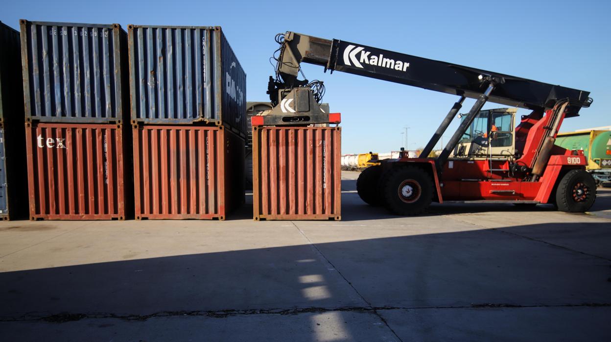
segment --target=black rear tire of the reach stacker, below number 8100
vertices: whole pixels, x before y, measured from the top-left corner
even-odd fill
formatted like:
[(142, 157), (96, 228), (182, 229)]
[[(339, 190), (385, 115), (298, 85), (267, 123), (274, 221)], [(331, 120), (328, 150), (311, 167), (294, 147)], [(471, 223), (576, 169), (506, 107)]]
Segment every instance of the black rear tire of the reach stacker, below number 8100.
[[(579, 191), (583, 191), (580, 193)], [(585, 170), (565, 174), (556, 190), (556, 205), (563, 212), (586, 212), (596, 199), (596, 182)]]

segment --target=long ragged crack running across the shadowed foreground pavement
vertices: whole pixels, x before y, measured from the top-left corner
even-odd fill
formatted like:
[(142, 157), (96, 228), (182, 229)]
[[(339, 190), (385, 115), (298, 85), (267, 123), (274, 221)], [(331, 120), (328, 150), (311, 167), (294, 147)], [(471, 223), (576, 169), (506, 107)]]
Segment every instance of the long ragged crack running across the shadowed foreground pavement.
[(81, 319), (104, 319), (114, 318), (125, 321), (146, 321), (149, 318), (160, 317), (179, 317), (179, 316), (202, 316), (209, 318), (228, 318), (231, 316), (249, 316), (257, 314), (274, 314), (279, 316), (303, 314), (303, 313), (325, 313), (325, 312), (356, 312), (374, 313), (380, 316), (378, 311), (382, 310), (427, 310), (427, 309), (481, 309), (489, 308), (573, 308), (573, 307), (611, 307), (611, 303), (579, 303), (579, 304), (558, 304), (558, 305), (516, 305), (510, 303), (471, 303), (470, 305), (459, 306), (439, 306), (439, 307), (308, 307), (291, 309), (248, 309), (248, 310), (194, 310), (194, 311), (160, 311), (152, 314), (114, 314), (114, 313), (59, 313), (48, 316), (37, 316), (35, 314), (25, 314), (18, 318), (1, 318), (0, 322), (32, 322), (44, 321), (50, 323), (64, 323), (80, 321)]

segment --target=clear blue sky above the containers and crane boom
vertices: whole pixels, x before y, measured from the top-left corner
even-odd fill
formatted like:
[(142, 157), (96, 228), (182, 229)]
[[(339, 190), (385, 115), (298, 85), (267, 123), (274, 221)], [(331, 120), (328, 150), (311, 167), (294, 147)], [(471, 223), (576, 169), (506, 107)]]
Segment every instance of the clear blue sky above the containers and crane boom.
[[(291, 4), (294, 4), (291, 6)], [(590, 91), (594, 103), (562, 131), (611, 125), (609, 1), (12, 1), (0, 21), (222, 26), (247, 73), (247, 100), (266, 101), (274, 35), (296, 31), (326, 39), (521, 76)], [(323, 80), (323, 99), (342, 113), (342, 152), (424, 146), (453, 95), (304, 65)], [(463, 106), (466, 112), (474, 100)], [(488, 103), (485, 108), (499, 108)], [(518, 117), (527, 111), (518, 111)], [(457, 122), (445, 134), (452, 135)]]

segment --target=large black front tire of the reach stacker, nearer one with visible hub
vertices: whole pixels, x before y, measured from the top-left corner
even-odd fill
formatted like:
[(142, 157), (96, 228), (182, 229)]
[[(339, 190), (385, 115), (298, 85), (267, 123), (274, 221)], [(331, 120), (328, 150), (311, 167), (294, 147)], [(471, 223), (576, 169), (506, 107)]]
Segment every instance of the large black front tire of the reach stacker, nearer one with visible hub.
[[(384, 204), (393, 214), (418, 215), (433, 201), (433, 179), (428, 172), (416, 166), (395, 166), (382, 174), (381, 184)], [(412, 198), (400, 195), (404, 185), (412, 185)]]

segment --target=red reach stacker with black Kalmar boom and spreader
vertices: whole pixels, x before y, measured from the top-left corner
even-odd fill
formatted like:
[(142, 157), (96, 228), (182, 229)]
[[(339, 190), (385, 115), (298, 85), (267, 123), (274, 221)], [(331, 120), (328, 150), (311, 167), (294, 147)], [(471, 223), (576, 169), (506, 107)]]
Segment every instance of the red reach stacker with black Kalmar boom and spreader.
[[(595, 180), (583, 152), (554, 145), (563, 120), (590, 106), (589, 92), (295, 32), (276, 41), (270, 125), (320, 122), (327, 115), (318, 105), (322, 83), (298, 80), (301, 62), (459, 96), (419, 158), (402, 153), (360, 174), (357, 190), (368, 204), (416, 215), (433, 201), (550, 203), (565, 212), (585, 212), (594, 203)], [(467, 97), (474, 105), (458, 114)], [(514, 108), (481, 110), (488, 101)], [(515, 108), (531, 110), (517, 127)], [(457, 114), (461, 122), (441, 154), (427, 157)]]

